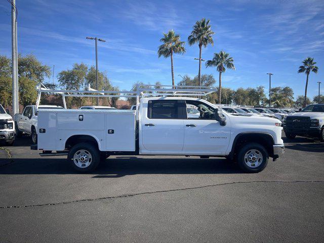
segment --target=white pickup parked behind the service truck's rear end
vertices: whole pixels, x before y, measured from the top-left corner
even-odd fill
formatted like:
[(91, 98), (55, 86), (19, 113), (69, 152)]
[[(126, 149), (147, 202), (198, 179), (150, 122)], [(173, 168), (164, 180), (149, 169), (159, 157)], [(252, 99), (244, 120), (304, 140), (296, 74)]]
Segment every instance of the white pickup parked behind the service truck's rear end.
[[(37, 143), (37, 111), (35, 105), (27, 105), (22, 113), (15, 114), (16, 137), (22, 133), (31, 135), (33, 144)], [(38, 109), (63, 109), (59, 105), (39, 105)]]

